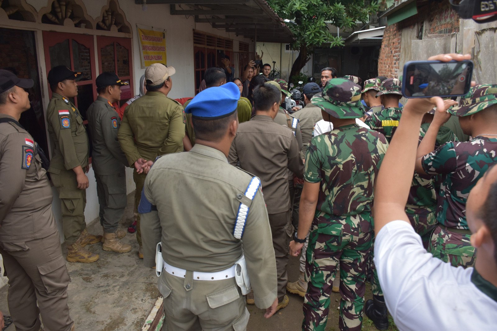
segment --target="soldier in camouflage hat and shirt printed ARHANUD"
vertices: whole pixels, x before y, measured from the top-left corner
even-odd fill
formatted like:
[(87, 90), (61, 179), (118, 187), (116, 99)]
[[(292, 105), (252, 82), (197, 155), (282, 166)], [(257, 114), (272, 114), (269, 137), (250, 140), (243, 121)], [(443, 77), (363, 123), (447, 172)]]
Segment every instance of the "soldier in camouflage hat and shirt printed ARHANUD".
[(376, 96), (380, 96), (385, 109), (372, 114), (364, 121), (371, 129), (383, 133), (389, 143), (402, 116), (402, 109), (398, 107), (402, 97), (401, 90), (402, 83), (398, 79), (384, 80)]

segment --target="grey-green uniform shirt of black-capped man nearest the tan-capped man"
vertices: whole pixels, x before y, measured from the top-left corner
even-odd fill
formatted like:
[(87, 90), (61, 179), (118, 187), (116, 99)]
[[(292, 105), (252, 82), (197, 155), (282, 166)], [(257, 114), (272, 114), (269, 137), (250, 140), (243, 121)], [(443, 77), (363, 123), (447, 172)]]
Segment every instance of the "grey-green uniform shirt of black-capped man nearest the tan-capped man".
[(121, 125), (119, 114), (107, 99), (98, 96), (89, 106), (86, 116), (93, 147), (93, 170), (100, 175), (122, 173), (128, 161), (117, 139)]

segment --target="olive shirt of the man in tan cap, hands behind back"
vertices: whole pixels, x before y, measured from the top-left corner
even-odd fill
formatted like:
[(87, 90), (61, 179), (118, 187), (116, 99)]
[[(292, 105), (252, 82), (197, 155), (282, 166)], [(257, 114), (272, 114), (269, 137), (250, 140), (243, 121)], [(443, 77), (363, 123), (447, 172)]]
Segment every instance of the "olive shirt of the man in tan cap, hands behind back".
[(128, 164), (183, 151), (185, 117), (181, 104), (162, 92), (147, 92), (124, 110), (117, 137)]

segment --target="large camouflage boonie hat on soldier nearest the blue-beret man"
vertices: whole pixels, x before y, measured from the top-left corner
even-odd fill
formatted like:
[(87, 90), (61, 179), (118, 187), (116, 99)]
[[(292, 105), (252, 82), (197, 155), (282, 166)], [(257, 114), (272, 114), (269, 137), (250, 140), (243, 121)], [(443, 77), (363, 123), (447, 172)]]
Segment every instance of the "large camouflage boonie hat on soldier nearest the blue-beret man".
[(326, 82), (323, 92), (314, 95), (311, 102), (336, 118), (364, 116), (361, 86), (345, 78), (333, 78)]

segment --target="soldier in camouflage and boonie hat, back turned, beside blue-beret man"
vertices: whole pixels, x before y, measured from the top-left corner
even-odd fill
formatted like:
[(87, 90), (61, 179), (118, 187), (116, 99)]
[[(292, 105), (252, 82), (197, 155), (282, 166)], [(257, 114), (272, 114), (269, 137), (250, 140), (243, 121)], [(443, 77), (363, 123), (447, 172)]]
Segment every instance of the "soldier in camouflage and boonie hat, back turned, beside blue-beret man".
[[(340, 263), (340, 330), (359, 331), (369, 255), (373, 246), (373, 183), (387, 151), (381, 133), (362, 128), (359, 85), (328, 81), (312, 103), (333, 123), (328, 134), (314, 137), (305, 163), (299, 229), (290, 243), (297, 256), (309, 235), (303, 330), (325, 330), (336, 266)], [(312, 211), (315, 210), (315, 213)], [(309, 212), (310, 211), (310, 212)]]

